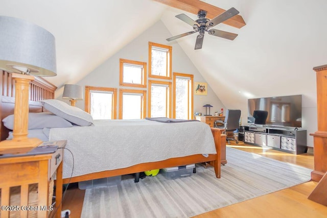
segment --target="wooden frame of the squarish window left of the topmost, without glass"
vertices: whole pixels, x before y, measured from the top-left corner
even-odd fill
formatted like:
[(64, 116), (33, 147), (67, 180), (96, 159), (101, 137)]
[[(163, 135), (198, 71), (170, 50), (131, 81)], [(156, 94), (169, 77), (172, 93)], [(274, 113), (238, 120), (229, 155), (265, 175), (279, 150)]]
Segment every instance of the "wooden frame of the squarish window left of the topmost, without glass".
[[(124, 83), (124, 64), (130, 65), (138, 65), (143, 66), (142, 70), (142, 78), (141, 81), (143, 84), (134, 84), (134, 83)], [(139, 88), (146, 88), (147, 87), (147, 62), (141, 61), (133, 61), (120, 58), (119, 59), (119, 85), (120, 86), (130, 86), (130, 87), (139, 87)]]

